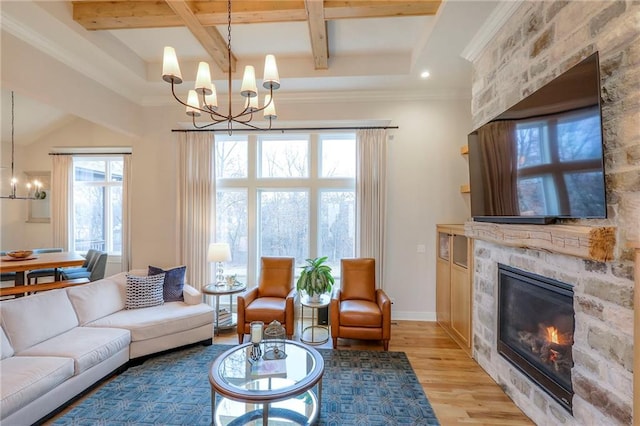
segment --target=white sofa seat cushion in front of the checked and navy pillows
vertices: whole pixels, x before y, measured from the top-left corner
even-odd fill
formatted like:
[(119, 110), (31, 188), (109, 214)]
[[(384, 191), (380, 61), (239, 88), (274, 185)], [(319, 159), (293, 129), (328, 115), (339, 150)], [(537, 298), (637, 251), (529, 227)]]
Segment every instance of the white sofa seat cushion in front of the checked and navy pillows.
[(204, 303), (187, 305), (184, 302), (168, 302), (161, 306), (116, 312), (87, 326), (131, 330), (131, 341), (136, 342), (168, 336), (207, 324), (213, 326), (211, 306)]

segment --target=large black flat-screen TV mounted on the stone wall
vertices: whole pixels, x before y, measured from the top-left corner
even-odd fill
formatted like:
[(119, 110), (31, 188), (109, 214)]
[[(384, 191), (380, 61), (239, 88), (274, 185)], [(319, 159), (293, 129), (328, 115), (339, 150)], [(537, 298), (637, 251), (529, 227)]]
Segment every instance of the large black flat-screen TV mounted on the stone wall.
[(605, 218), (601, 121), (596, 52), (472, 132), (474, 220)]

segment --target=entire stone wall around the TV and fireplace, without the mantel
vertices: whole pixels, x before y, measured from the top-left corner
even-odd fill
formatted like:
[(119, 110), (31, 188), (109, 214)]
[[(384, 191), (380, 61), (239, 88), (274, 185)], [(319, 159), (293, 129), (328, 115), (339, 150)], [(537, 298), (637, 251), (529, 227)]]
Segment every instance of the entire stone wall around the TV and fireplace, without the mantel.
[[(474, 127), (598, 51), (606, 159), (607, 263), (476, 240), (474, 358), (538, 424), (632, 421), (633, 251), (640, 240), (640, 2), (522, 2), (473, 64)], [(497, 263), (574, 286), (573, 416), (496, 351)]]

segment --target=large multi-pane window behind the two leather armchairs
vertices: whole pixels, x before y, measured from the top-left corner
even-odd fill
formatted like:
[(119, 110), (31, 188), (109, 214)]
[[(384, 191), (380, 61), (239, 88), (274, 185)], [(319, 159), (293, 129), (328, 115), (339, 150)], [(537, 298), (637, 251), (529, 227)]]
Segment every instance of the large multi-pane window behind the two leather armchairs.
[(328, 256), (338, 277), (355, 255), (355, 134), (216, 135), (215, 151), (225, 273), (251, 285), (261, 256)]

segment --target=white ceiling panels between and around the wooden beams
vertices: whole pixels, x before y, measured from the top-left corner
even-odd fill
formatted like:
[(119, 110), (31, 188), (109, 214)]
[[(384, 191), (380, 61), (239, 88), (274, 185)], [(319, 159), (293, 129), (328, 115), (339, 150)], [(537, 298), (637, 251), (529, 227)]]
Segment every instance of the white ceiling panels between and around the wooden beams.
[[(277, 95), (285, 99), (302, 94), (345, 97), (380, 92), (405, 97), (469, 96), (471, 66), (461, 53), (486, 28), (485, 23), (495, 19), (503, 3), (447, 0), (435, 16), (329, 21), (328, 70), (314, 69), (306, 22), (232, 25), (232, 50), (238, 70), (253, 63), (259, 76), (264, 54), (275, 54), (282, 85)], [(161, 80), (165, 45), (175, 47), (180, 60), (185, 84), (179, 92), (186, 93), (192, 86), (200, 60), (211, 64), (219, 93), (226, 92), (226, 77), (186, 28), (87, 31), (73, 21), (71, 3), (64, 1), (2, 0), (0, 8), (3, 32), (132, 102), (174, 103), (169, 86)], [(217, 28), (226, 39), (226, 26)], [(431, 77), (422, 80), (419, 74), (425, 69)], [(2, 87), (3, 124), (10, 122), (7, 99), (11, 89)], [(70, 118), (55, 105), (16, 96), (16, 143), (31, 143)], [(10, 138), (7, 127), (2, 126), (2, 141)]]

